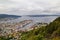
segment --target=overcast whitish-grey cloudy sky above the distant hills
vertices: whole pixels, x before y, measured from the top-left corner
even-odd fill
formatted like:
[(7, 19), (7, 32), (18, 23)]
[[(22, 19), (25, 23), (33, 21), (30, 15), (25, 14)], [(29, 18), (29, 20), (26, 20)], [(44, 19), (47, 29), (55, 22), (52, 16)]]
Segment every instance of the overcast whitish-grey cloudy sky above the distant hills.
[(60, 0), (0, 0), (0, 14), (60, 14)]

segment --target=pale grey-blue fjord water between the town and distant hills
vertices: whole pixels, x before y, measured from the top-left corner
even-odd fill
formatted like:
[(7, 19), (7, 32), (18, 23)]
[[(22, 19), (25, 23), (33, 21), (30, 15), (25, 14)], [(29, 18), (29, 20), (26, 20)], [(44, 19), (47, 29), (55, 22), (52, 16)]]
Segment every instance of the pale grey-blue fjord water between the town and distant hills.
[[(20, 22), (24, 20), (33, 20), (33, 22), (42, 22), (42, 23), (50, 23), (55, 20), (59, 16), (39, 16), (39, 17), (29, 17), (29, 16), (22, 16), (17, 19), (3, 21), (3, 22)], [(1, 21), (2, 22), (2, 21)]]

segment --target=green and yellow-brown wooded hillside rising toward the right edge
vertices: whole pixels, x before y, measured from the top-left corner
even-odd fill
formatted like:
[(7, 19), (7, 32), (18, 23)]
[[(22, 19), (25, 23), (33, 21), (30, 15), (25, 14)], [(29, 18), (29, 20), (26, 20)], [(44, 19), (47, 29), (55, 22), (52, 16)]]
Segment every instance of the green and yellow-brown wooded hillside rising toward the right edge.
[(60, 17), (46, 27), (23, 32), (21, 40), (60, 40)]

